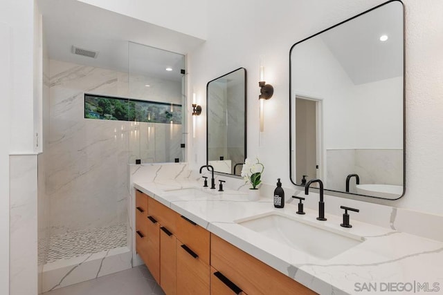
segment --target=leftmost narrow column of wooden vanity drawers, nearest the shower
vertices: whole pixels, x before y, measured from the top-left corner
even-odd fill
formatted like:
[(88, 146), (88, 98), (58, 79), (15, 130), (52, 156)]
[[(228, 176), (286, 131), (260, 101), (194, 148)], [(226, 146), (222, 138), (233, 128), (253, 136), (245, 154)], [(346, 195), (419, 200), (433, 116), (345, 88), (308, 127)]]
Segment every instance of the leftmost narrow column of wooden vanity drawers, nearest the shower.
[(146, 263), (147, 196), (136, 190), (136, 252)]

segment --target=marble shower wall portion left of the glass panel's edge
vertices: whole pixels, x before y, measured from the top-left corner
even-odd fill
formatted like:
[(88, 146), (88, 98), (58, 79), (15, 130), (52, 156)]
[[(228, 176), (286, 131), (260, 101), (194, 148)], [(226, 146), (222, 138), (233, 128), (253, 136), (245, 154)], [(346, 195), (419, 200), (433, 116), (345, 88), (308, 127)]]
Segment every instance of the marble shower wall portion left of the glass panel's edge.
[(127, 222), (130, 123), (83, 118), (84, 92), (126, 96), (127, 75), (55, 60), (50, 73), (51, 235)]

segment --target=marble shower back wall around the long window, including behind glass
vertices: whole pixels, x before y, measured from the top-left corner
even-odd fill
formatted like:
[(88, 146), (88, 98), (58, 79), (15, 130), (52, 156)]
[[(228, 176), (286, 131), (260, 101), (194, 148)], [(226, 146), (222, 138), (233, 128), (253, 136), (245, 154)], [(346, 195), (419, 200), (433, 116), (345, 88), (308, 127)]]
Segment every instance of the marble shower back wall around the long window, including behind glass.
[[(51, 235), (128, 222), (128, 160), (183, 160), (181, 125), (85, 120), (83, 95), (168, 97), (168, 102), (181, 103), (181, 87), (164, 81), (151, 92), (137, 91), (129, 87), (127, 73), (55, 60), (50, 74), (45, 164)], [(137, 75), (130, 79), (143, 81)]]

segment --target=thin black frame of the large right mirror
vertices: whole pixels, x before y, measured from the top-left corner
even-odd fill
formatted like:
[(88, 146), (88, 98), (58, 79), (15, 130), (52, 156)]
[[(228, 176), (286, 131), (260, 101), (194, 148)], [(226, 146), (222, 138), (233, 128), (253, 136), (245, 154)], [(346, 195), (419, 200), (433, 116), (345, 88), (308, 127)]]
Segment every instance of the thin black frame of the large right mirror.
[[(293, 173), (292, 173), (292, 169), (293, 169), (293, 155), (292, 155), (292, 120), (293, 120), (293, 116), (295, 117), (295, 114), (292, 115), (291, 114), (291, 109), (292, 109), (292, 73), (291, 73), (291, 53), (293, 48), (295, 48), (295, 46), (297, 44), (302, 43), (303, 41), (307, 41), (308, 39), (311, 39), (313, 37), (316, 37), (317, 35), (322, 34), (323, 32), (326, 32), (328, 30), (331, 30), (332, 28), (335, 28), (336, 26), (340, 26), (343, 23), (346, 23), (347, 21), (351, 21), (352, 19), (356, 19), (357, 17), (360, 17), (361, 15), (365, 15), (366, 13), (375, 10), (377, 8), (380, 8), (381, 6), (384, 6), (388, 3), (391, 2), (399, 2), (401, 4), (402, 7), (402, 14), (403, 14), (403, 192), (401, 193), (401, 195), (398, 198), (395, 199), (390, 199), (390, 198), (382, 198), (382, 197), (378, 197), (378, 196), (368, 196), (368, 195), (362, 195), (359, 193), (347, 193), (345, 191), (334, 191), (332, 189), (324, 189), (325, 191), (327, 191), (330, 195), (332, 196), (364, 196), (364, 197), (370, 197), (370, 198), (376, 198), (376, 199), (381, 199), (381, 200), (399, 200), (399, 198), (403, 197), (405, 192), (406, 192), (406, 41), (405, 41), (405, 9), (404, 9), (404, 3), (401, 0), (390, 0), (390, 1), (386, 1), (384, 3), (379, 4), (378, 6), (374, 6), (373, 8), (370, 8), (369, 10), (365, 10), (364, 12), (359, 13), (358, 15), (355, 15), (354, 17), (350, 17), (349, 19), (346, 19), (344, 21), (341, 21), (340, 23), (336, 23), (334, 26), (331, 26), (329, 28), (326, 28), (325, 30), (321, 30), (320, 32), (317, 32), (314, 35), (311, 35), (305, 39), (302, 39), (301, 41), (296, 42), (296, 44), (293, 44), (293, 46), (291, 46), (291, 49), (289, 50), (289, 179), (291, 180), (292, 184), (296, 185), (297, 187), (304, 187), (301, 184), (296, 184), (296, 182), (294, 182), (293, 180)], [(295, 102), (294, 102), (295, 103)], [(315, 187), (313, 187), (313, 189), (316, 189)]]

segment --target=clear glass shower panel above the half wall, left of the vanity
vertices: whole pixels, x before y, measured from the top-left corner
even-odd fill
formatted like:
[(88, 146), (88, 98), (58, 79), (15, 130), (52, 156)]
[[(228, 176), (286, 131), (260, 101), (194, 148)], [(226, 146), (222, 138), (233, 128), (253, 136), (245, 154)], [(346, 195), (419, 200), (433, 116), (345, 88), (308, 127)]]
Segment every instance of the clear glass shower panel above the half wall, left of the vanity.
[(129, 42), (128, 68), (129, 163), (185, 161), (185, 57)]

